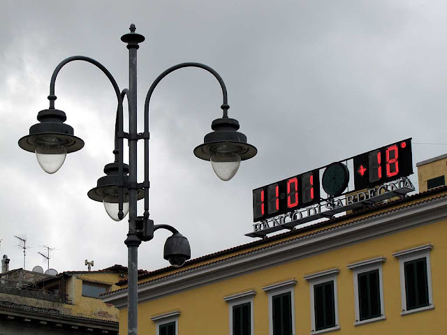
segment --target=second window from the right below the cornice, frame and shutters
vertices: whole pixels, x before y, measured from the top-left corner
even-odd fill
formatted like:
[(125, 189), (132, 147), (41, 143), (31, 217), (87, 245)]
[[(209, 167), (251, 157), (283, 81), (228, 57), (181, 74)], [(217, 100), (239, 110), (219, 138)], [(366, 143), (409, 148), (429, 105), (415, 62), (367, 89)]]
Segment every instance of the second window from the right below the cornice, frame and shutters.
[(385, 260), (378, 257), (348, 265), (354, 276), (354, 325), (385, 320), (382, 279), (382, 263)]

